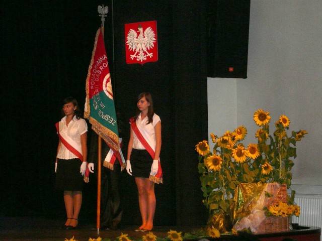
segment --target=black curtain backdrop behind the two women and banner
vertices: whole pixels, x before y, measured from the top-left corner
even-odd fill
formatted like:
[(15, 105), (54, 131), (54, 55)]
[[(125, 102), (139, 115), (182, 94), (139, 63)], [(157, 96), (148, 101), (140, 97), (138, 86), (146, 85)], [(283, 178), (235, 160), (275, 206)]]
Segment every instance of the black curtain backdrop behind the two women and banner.
[[(152, 94), (162, 119), (164, 184), (155, 187), (154, 225), (205, 224), (195, 145), (208, 139), (206, 14), (203, 1), (185, 0), (2, 1), (1, 214), (65, 217), (62, 192), (54, 190), (54, 124), (66, 96), (85, 104), (102, 4), (109, 7), (105, 46), (116, 111), (125, 126), (124, 156), (128, 119), (140, 92)], [(124, 24), (152, 20), (157, 21), (158, 61), (126, 64)], [(122, 223), (139, 224), (136, 185), (125, 171), (121, 187)], [(80, 218), (95, 222), (94, 175), (83, 196)]]

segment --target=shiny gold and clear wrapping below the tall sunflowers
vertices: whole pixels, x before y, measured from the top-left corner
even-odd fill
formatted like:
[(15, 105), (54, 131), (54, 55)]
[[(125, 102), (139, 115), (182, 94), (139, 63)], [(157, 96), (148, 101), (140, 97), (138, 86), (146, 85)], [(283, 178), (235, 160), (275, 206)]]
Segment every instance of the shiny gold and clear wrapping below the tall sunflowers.
[[(260, 225), (266, 218), (265, 206), (274, 203), (277, 198), (285, 200), (287, 194), (279, 196), (282, 186), (279, 183), (241, 183), (235, 190), (234, 203), (232, 209), (234, 214), (235, 230), (250, 228), (253, 233), (258, 233)], [(285, 187), (286, 188), (286, 187)], [(283, 192), (284, 193), (284, 192)]]

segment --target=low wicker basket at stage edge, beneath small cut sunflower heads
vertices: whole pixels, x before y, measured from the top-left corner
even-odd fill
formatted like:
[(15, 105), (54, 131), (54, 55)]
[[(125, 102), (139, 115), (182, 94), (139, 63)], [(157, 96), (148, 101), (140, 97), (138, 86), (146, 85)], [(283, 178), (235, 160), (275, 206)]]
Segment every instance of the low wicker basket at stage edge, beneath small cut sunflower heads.
[(288, 217), (266, 217), (258, 227), (257, 233), (288, 231)]

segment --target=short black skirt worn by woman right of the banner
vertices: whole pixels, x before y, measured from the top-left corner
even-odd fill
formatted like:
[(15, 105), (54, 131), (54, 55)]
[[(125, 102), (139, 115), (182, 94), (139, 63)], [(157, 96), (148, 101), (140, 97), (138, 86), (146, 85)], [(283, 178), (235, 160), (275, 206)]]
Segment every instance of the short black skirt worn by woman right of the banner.
[(131, 167), (134, 177), (149, 178), (153, 158), (146, 150), (132, 149)]

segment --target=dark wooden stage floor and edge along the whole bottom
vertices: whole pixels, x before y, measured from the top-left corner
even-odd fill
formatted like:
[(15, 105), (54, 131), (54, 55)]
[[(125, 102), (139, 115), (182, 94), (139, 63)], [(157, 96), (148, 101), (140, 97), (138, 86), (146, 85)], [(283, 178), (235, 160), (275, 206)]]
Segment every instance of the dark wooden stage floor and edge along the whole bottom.
[[(6, 217), (0, 216), (0, 240), (1, 241), (65, 241), (70, 240), (73, 236), (77, 241), (88, 241), (89, 238), (116, 240), (118, 236), (128, 234), (131, 240), (142, 240), (146, 233), (134, 232), (137, 226), (122, 225), (119, 229), (106, 231), (100, 229), (97, 232), (96, 224), (79, 220), (78, 228), (75, 230), (59, 229), (63, 220), (39, 217), (39, 216), (21, 216)], [(157, 237), (167, 237), (168, 231), (176, 230), (178, 232), (193, 232), (202, 228), (201, 226), (155, 226), (152, 230)], [(246, 236), (227, 236), (222, 235), (219, 238), (207, 237), (206, 240), (240, 240), (240, 241), (320, 241), (320, 227), (301, 227), (287, 232), (262, 233)], [(191, 241), (200, 239), (189, 239)]]

